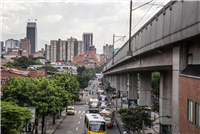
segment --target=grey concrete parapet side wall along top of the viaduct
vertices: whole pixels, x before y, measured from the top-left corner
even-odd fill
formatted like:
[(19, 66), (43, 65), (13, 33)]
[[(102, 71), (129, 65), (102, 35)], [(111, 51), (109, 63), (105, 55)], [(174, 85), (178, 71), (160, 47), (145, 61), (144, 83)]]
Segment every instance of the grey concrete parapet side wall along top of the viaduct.
[[(133, 57), (199, 35), (199, 7), (198, 0), (172, 0), (132, 36)], [(115, 54), (115, 65), (127, 59), (128, 46), (127, 41)], [(111, 67), (112, 61), (104, 70)]]

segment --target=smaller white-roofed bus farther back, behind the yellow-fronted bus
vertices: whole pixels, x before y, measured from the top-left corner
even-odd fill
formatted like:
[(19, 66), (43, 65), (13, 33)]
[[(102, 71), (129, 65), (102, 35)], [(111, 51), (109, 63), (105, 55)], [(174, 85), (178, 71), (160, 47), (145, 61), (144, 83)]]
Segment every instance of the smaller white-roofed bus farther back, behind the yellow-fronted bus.
[(98, 113), (99, 112), (99, 100), (98, 99), (90, 99), (89, 100), (89, 112), (90, 113)]

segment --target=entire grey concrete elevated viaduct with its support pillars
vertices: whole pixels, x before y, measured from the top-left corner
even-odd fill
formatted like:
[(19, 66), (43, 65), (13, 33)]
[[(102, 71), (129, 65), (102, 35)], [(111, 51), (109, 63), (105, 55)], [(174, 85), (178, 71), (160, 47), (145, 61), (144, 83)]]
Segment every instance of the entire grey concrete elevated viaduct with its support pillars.
[(127, 55), (128, 41), (103, 68), (106, 80), (118, 90), (137, 99), (139, 105), (151, 105), (151, 73), (160, 75), (159, 115), (161, 127), (171, 126), (179, 133), (179, 74), (190, 64), (200, 64), (200, 1), (172, 0), (131, 38), (132, 56)]

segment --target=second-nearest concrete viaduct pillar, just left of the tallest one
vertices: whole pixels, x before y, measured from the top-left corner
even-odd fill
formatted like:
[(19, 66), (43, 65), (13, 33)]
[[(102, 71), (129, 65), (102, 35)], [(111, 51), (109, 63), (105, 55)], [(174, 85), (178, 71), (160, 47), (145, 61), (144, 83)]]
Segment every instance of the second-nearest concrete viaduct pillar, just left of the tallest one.
[[(159, 116), (172, 115), (172, 72), (160, 73)], [(171, 125), (171, 118), (160, 118), (161, 126)]]

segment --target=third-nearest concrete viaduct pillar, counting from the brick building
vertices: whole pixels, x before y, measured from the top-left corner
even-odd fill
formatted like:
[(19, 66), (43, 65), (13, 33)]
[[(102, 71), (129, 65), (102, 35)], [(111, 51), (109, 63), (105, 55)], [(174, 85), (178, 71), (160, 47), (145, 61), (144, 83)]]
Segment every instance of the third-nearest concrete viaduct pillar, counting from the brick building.
[(139, 105), (151, 106), (151, 73), (140, 73), (139, 81)]

